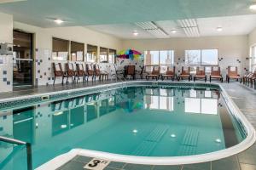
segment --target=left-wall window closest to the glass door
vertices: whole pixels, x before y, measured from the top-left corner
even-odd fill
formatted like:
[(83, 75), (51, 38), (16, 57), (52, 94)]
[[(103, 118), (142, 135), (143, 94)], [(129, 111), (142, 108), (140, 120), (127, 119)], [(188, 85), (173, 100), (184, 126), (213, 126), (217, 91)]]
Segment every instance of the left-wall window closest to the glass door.
[(69, 52), (69, 41), (60, 38), (52, 38), (52, 59), (67, 60)]

